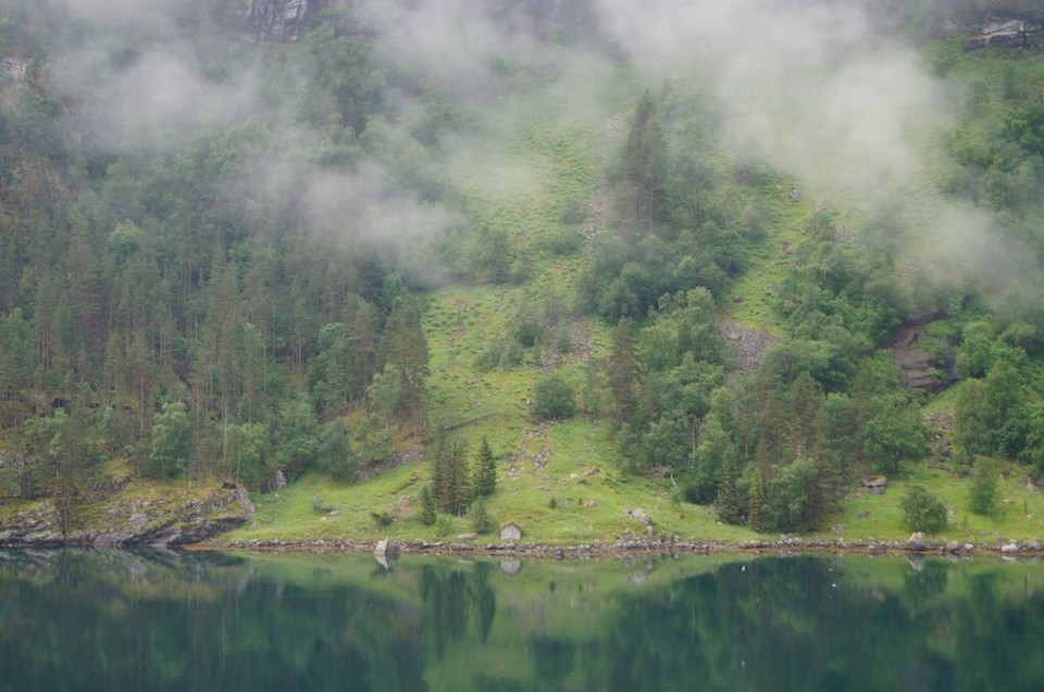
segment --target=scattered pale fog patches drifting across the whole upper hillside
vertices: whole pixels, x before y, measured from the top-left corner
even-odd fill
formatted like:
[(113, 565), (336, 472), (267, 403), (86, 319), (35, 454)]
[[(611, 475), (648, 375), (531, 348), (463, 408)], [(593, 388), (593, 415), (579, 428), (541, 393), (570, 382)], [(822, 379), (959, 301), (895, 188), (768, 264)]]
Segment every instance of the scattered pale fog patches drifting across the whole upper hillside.
[[(186, 36), (186, 17), (197, 24), (202, 3), (183, 0), (69, 0), (88, 27), (75, 41), (54, 47), (54, 78), (77, 104), (78, 125), (116, 153), (166, 152), (199, 127), (260, 118), (277, 131), (316, 143), (322, 133), (295, 119), (294, 109), (274, 108), (263, 97), (263, 76), (239, 61), (215, 76), (208, 52), (213, 37)], [(211, 0), (211, 4), (217, 4)], [(233, 10), (241, 2), (221, 3)], [(371, 0), (351, 3), (356, 22), (381, 37), (380, 56), (405, 74), (413, 90), (395, 92), (385, 126), (410, 131), (432, 96), (461, 109), (483, 109), (512, 127), (511, 97), (520, 84), (569, 90), (589, 106), (600, 90), (620, 79), (657, 88), (666, 79), (705, 75), (723, 115), (721, 141), (746, 160), (762, 161), (793, 175), (817, 196), (846, 203), (902, 206), (902, 198), (924, 180), (931, 138), (925, 134), (952, 117), (956, 101), (918, 54), (881, 30), (873, 3), (858, 0), (589, 0), (543, 2), (546, 12), (569, 14), (591, 40), (567, 47), (549, 40), (546, 26), (523, 3), (481, 0)], [(197, 26), (198, 28), (198, 26)], [(114, 30), (112, 30), (114, 29)], [(245, 41), (244, 36), (232, 41)], [(227, 50), (227, 47), (225, 48)], [(298, 60), (307, 60), (299, 56)], [(298, 70), (307, 73), (308, 65)], [(423, 93), (422, 93), (423, 92)], [(293, 97), (287, 97), (293, 98)], [(496, 109), (500, 109), (497, 111)], [(614, 115), (605, 113), (608, 118)], [(568, 111), (548, 113), (568, 118)], [(481, 147), (482, 131), (426, 144), (435, 160), (467, 155)], [(399, 135), (396, 135), (397, 137)], [(409, 135), (402, 135), (408, 138)], [(278, 141), (278, 139), (276, 139)], [(384, 161), (363, 161), (349, 171), (285, 161), (265, 152), (245, 172), (246, 184), (285, 176), (304, 190), (309, 223), (318, 232), (363, 238), (399, 252), (401, 243), (462, 225), (459, 210), (440, 209), (420, 191), (393, 180)], [(490, 186), (519, 179), (517, 162), (502, 176), (487, 172)], [(947, 219), (924, 229), (945, 238)], [(977, 217), (978, 218), (978, 217)], [(982, 217), (984, 218), (984, 217)], [(972, 224), (977, 238), (992, 238), (989, 219)], [(955, 231), (956, 232), (956, 231)], [(961, 238), (969, 234), (958, 234)], [(978, 247), (977, 242), (957, 243)], [(956, 247), (956, 246), (955, 246)], [(398, 248), (398, 249), (397, 249)], [(424, 280), (435, 280), (428, 272)]]

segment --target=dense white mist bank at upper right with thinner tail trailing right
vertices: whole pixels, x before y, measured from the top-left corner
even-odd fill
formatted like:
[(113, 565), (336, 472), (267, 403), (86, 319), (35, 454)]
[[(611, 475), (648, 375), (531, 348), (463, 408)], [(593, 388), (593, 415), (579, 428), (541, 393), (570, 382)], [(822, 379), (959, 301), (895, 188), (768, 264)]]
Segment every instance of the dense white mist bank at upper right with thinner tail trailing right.
[[(960, 98), (863, 0), (598, 0), (604, 28), (647, 81), (710, 74), (723, 143), (794, 176), (824, 203), (874, 216), (917, 262), (974, 269), (1002, 289), (1031, 253), (933, 187)], [(883, 13), (884, 11), (881, 10)], [(930, 210), (925, 213), (925, 210)]]

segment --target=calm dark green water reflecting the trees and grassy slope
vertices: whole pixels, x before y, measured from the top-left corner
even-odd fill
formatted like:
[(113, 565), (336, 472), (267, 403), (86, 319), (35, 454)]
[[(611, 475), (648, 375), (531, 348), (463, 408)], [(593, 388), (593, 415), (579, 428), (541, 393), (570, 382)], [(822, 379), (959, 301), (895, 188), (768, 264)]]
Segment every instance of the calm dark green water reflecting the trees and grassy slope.
[(1040, 691), (1044, 566), (0, 551), (0, 690), (327, 689)]

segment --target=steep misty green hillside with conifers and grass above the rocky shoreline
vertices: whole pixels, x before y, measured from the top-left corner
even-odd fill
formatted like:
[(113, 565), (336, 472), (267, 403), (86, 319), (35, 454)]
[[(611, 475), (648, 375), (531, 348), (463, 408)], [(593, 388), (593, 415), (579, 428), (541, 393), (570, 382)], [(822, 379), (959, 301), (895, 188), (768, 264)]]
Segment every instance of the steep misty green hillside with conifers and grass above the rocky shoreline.
[(1037, 3), (632, 4), (0, 0), (0, 502), (1037, 531)]

